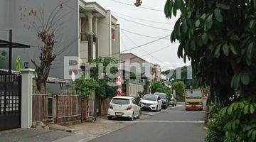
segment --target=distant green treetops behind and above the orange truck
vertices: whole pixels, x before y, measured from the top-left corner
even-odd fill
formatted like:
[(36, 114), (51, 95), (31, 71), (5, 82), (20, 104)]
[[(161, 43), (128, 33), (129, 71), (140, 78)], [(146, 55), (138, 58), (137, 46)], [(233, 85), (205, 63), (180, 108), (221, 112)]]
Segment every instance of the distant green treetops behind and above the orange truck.
[[(190, 72), (191, 75), (188, 73), (188, 68), (191, 66), (183, 66), (178, 67), (175, 70), (166, 70), (162, 72), (163, 75), (166, 75), (169, 78), (169, 81), (171, 82), (177, 82), (177, 81), (183, 81), (186, 84), (186, 88), (190, 88), (190, 86), (193, 86), (193, 88), (198, 88), (198, 80), (195, 79), (193, 76), (193, 72)], [(181, 78), (177, 79), (177, 70), (181, 70), (181, 75), (178, 75)], [(188, 79), (189, 76), (192, 76), (192, 79)]]

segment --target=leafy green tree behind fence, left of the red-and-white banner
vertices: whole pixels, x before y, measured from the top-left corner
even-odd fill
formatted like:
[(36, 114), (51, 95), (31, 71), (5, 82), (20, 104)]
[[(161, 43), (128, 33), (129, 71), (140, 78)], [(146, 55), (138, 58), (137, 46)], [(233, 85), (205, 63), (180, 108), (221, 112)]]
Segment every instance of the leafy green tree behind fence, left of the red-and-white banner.
[[(98, 97), (108, 98), (114, 97), (115, 93), (117, 92), (117, 87), (111, 86), (108, 82), (115, 82), (115, 79), (110, 78), (107, 76), (107, 66), (110, 64), (117, 65), (118, 60), (115, 58), (96, 58), (95, 60), (91, 60), (90, 63), (95, 63), (97, 66), (92, 67), (90, 70), (90, 77), (97, 81), (99, 87), (95, 89), (95, 94)], [(103, 65), (103, 77), (99, 78), (99, 67)], [(110, 73), (114, 73), (114, 70), (117, 70), (117, 67), (111, 67)]]

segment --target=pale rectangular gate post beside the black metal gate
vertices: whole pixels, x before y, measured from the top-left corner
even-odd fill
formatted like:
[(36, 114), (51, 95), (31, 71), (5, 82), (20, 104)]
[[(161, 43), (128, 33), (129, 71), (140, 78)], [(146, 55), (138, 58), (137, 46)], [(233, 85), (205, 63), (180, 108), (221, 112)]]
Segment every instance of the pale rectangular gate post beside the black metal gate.
[(34, 69), (21, 69), (21, 128), (32, 126), (32, 93)]

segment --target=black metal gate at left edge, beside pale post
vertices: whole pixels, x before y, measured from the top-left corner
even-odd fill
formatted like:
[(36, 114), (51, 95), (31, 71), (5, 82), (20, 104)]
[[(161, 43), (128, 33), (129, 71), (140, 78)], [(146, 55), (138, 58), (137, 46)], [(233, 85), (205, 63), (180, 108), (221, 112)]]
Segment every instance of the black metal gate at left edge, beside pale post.
[(21, 75), (0, 72), (0, 131), (21, 128)]

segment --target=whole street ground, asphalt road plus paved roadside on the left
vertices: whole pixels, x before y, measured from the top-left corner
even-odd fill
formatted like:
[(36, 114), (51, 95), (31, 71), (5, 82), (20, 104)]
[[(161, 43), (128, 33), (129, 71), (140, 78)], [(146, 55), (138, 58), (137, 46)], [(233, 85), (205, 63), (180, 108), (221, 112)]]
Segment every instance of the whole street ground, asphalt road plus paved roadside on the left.
[(143, 111), (141, 119), (107, 120), (100, 117), (95, 123), (69, 126), (74, 133), (45, 129), (25, 129), (0, 133), (0, 141), (42, 142), (105, 142), (105, 141), (182, 141), (200, 142), (205, 136), (204, 111), (184, 111), (183, 104), (169, 107), (161, 112)]

